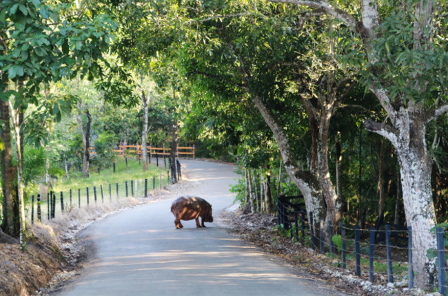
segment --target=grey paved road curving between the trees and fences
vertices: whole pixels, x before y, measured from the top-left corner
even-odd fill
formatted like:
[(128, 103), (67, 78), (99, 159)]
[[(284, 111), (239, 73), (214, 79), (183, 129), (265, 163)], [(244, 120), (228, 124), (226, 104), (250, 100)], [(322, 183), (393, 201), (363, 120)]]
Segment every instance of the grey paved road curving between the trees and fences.
[[(236, 182), (230, 165), (182, 160), (198, 195), (214, 216), (233, 202)], [(135, 207), (88, 229), (94, 259), (57, 295), (343, 295), (324, 282), (292, 275), (252, 246), (216, 224), (196, 229), (194, 220), (174, 229), (171, 200)], [(324, 286), (319, 288), (319, 286)]]

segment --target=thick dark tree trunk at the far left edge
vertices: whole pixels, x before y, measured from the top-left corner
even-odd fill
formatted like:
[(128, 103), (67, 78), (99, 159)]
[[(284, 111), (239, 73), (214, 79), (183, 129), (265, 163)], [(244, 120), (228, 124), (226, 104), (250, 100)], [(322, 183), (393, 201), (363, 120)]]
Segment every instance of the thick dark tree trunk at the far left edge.
[(0, 100), (0, 121), (3, 129), (0, 129), (0, 136), (3, 139), (3, 151), (0, 151), (1, 180), (3, 191), (3, 224), (5, 233), (13, 237), (19, 236), (19, 220), (17, 219), (17, 188), (15, 183), (15, 169), (12, 166), (12, 148), (10, 134), (10, 112), (8, 101)]

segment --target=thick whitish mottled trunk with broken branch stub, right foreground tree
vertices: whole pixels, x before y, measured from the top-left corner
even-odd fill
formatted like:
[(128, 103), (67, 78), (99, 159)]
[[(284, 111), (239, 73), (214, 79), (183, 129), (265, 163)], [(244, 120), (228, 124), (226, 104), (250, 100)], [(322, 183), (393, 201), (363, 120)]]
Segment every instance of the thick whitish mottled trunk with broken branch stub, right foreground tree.
[(435, 260), (429, 260), (426, 255), (428, 249), (436, 247), (436, 237), (430, 231), (436, 225), (436, 213), (431, 191), (432, 160), (425, 142), (425, 123), (418, 120), (417, 109), (420, 107), (413, 104), (409, 109), (400, 109), (395, 114), (395, 128), (368, 120), (365, 127), (385, 136), (395, 147), (400, 161), (406, 221), (412, 226), (416, 286), (428, 287), (434, 284), (436, 273)]

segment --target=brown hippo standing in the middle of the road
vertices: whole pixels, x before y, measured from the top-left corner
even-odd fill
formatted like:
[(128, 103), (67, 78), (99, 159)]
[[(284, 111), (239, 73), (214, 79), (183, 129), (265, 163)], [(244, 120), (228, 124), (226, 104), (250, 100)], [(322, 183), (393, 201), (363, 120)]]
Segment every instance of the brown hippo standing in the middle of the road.
[[(204, 222), (213, 222), (212, 205), (196, 196), (181, 196), (171, 204), (171, 213), (176, 220), (176, 229), (183, 227), (181, 220), (196, 220), (196, 227), (205, 227)], [(202, 221), (199, 224), (199, 217)]]

